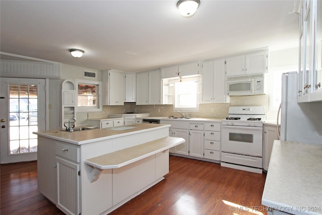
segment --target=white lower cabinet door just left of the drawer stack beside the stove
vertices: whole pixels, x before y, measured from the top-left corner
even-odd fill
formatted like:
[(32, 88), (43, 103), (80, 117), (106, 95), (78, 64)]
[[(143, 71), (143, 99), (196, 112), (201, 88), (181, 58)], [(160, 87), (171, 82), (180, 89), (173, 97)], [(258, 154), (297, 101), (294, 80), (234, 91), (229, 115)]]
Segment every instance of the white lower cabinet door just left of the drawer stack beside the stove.
[(203, 130), (190, 130), (189, 134), (189, 155), (203, 158)]

